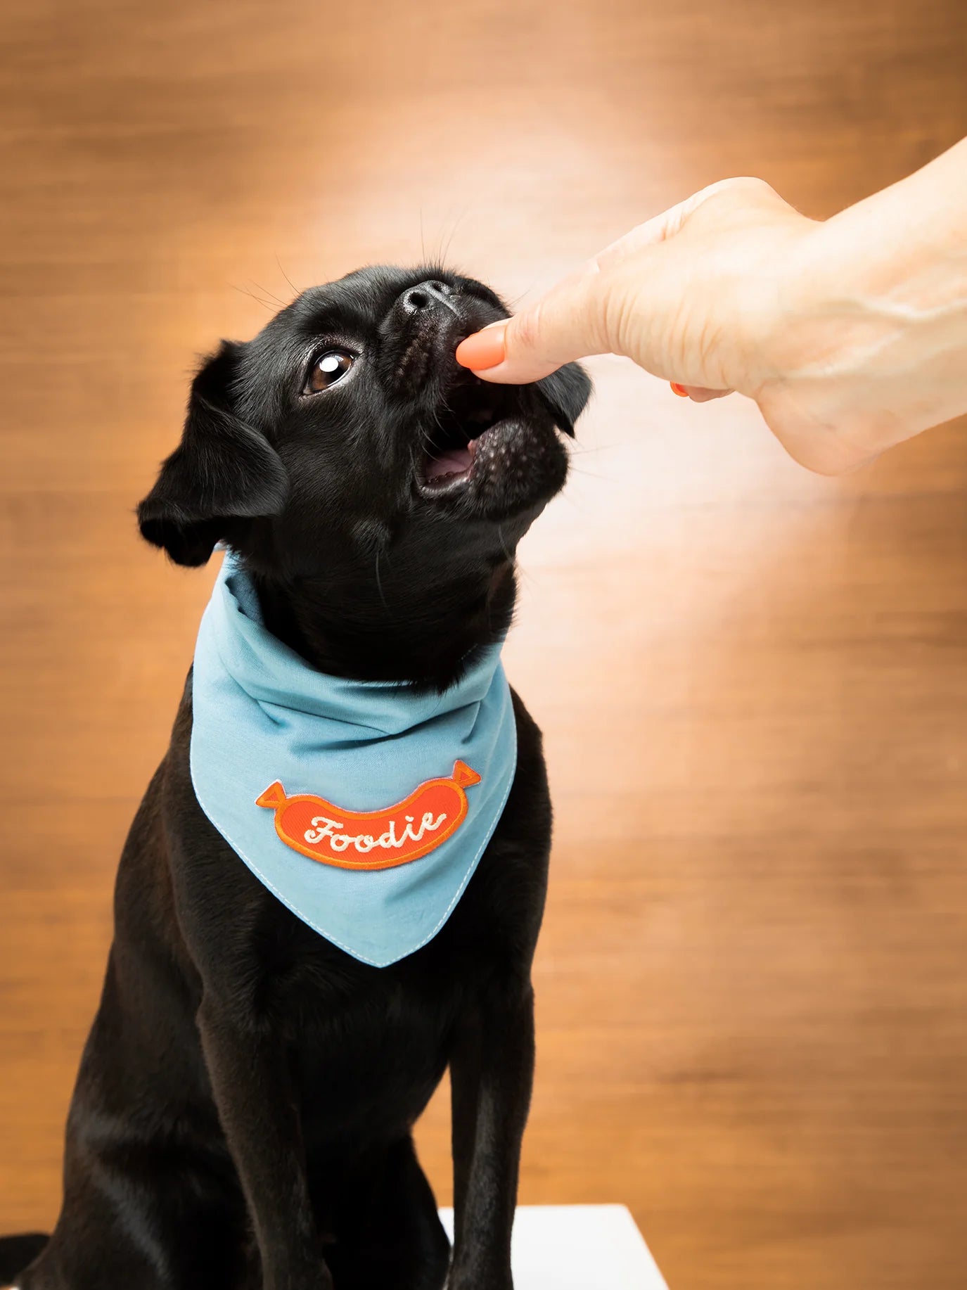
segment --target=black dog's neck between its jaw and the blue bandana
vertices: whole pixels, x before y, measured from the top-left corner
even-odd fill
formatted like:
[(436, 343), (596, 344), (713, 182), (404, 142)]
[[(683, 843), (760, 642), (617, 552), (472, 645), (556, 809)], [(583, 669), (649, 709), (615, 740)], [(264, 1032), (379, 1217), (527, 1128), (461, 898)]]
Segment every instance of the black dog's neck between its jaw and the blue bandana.
[(290, 580), (255, 573), (254, 584), (267, 630), (318, 671), (440, 690), (476, 650), (504, 637), (516, 597), (511, 560), (420, 592), (358, 571)]

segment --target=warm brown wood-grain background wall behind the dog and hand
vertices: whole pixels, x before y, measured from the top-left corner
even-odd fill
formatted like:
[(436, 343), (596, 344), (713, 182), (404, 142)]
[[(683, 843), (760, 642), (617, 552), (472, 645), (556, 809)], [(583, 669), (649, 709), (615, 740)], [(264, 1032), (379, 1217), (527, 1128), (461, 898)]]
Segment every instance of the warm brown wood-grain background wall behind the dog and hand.
[[(829, 214), (967, 133), (967, 10), (6, 0), (3, 28), (15, 1231), (57, 1211), (116, 858), (211, 580), (132, 513), (195, 355), (288, 279), (422, 244), (520, 298), (727, 174)], [(828, 481), (741, 400), (593, 369), (507, 651), (558, 809), (522, 1198), (625, 1201), (672, 1290), (962, 1287), (966, 427)], [(446, 1200), (441, 1099), (420, 1142)]]

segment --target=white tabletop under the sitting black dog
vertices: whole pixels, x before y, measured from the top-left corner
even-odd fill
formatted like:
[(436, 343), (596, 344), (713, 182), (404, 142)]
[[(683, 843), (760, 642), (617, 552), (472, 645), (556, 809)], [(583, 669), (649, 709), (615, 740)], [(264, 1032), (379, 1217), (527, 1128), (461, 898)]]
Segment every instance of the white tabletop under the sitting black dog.
[(521, 1205), (512, 1258), (514, 1290), (668, 1290), (624, 1205)]

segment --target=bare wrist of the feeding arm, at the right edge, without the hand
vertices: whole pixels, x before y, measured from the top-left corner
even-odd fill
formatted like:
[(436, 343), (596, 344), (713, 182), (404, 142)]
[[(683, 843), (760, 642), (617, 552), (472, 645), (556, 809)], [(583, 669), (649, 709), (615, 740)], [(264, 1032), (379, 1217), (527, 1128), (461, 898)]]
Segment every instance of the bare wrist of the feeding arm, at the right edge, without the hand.
[(771, 297), (753, 397), (807, 400), (855, 454), (967, 408), (967, 222), (924, 175), (810, 224)]

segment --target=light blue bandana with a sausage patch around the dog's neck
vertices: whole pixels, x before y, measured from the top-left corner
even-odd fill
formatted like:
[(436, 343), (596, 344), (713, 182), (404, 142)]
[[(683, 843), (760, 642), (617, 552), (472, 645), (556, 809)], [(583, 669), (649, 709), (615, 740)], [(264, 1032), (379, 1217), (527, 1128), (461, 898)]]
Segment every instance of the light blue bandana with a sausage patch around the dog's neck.
[(199, 628), (192, 704), (199, 802), (282, 904), (376, 968), (440, 931), (517, 764), (499, 646), (444, 694), (326, 676), (266, 631), (227, 555)]

